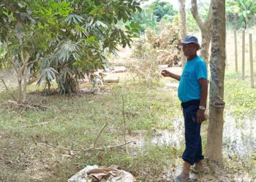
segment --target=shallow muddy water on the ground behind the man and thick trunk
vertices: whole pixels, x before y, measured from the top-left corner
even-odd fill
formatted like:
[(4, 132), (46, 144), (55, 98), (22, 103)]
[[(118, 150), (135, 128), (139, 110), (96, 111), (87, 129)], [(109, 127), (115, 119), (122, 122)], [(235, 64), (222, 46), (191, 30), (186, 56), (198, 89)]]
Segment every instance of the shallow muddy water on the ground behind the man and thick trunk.
[[(182, 118), (173, 120), (172, 130), (155, 130), (148, 138), (143, 132), (137, 136), (138, 147), (146, 143), (166, 145), (180, 148), (184, 145), (184, 123)], [(223, 154), (228, 157), (248, 157), (256, 151), (256, 119), (234, 119), (230, 115), (225, 116), (223, 127)], [(201, 135), (206, 137), (208, 124), (202, 124)]]

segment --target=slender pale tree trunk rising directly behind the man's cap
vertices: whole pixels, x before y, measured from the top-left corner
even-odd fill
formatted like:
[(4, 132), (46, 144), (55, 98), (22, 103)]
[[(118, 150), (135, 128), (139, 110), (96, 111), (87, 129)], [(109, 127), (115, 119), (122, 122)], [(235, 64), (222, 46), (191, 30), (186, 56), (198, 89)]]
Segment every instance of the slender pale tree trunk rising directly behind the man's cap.
[[(181, 16), (181, 39), (187, 36), (187, 17), (186, 17), (186, 0), (178, 0), (179, 13)], [(186, 58), (184, 53), (181, 52), (181, 66), (185, 65)]]

